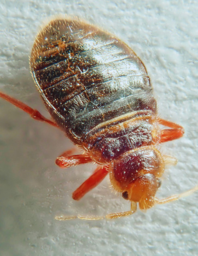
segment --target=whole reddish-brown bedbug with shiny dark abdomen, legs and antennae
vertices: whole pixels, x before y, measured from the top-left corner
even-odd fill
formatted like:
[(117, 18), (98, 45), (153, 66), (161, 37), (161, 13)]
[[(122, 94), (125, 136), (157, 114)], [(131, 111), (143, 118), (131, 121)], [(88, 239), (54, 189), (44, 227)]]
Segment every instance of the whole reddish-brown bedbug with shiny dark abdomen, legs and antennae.
[(107, 219), (133, 214), (137, 203), (140, 209), (148, 209), (197, 190), (195, 187), (164, 200), (155, 197), (165, 164), (176, 164), (175, 158), (161, 155), (157, 146), (180, 138), (184, 129), (158, 118), (146, 67), (127, 44), (85, 22), (55, 19), (35, 39), (30, 66), (53, 121), (7, 94), (0, 96), (34, 119), (61, 128), (85, 150), (82, 155), (72, 155), (73, 150), (64, 152), (56, 160), (59, 167), (98, 164), (74, 191), (74, 200), (80, 200), (107, 174), (113, 188), (131, 202), (130, 211), (107, 214)]

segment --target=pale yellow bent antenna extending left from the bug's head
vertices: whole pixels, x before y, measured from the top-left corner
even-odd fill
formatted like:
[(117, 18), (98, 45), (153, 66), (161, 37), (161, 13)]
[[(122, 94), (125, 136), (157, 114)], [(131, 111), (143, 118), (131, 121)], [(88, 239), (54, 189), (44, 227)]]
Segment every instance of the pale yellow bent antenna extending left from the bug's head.
[(81, 220), (101, 220), (101, 219), (116, 219), (116, 218), (121, 218), (121, 217), (127, 217), (133, 213), (136, 212), (137, 209), (137, 204), (135, 202), (131, 202), (131, 208), (130, 211), (128, 212), (123, 212), (123, 213), (111, 213), (107, 214), (106, 216), (93, 216), (93, 217), (88, 217), (88, 216), (57, 216), (55, 217), (56, 220), (70, 220), (70, 219), (81, 219)]

